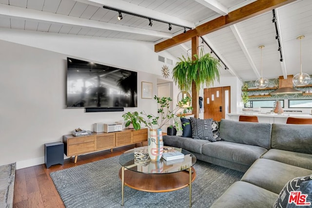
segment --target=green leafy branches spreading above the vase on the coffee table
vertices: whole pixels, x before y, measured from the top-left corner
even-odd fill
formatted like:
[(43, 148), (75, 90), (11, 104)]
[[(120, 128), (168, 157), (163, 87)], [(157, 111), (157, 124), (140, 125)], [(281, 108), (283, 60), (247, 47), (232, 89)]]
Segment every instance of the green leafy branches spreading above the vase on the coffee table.
[[(170, 97), (157, 97), (155, 95), (154, 99), (160, 106), (157, 110), (158, 114), (147, 114), (145, 113), (145, 111), (140, 112), (140, 114), (137, 111), (123, 113), (122, 117), (126, 121), (125, 126), (128, 127), (132, 123), (133, 128), (135, 130), (139, 130), (141, 129), (141, 124), (143, 123), (145, 127), (149, 129), (155, 129), (155, 126), (157, 126), (157, 128), (159, 129), (167, 124), (175, 116), (181, 116), (182, 113), (187, 113), (188, 111), (193, 110), (192, 107), (182, 107), (191, 102), (190, 97), (185, 97), (178, 101), (178, 103), (176, 104), (176, 108), (172, 111), (170, 111), (170, 102), (172, 101)], [(180, 112), (181, 109), (183, 109), (182, 112)]]

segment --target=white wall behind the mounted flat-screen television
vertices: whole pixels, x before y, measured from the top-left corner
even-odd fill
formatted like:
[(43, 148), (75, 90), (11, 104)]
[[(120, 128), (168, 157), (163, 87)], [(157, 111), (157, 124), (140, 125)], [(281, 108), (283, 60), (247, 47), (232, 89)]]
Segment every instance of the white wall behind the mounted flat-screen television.
[(125, 111), (156, 113), (156, 101), (141, 99), (140, 92), (141, 81), (147, 81), (157, 94), (163, 65), (158, 55), (174, 59), (154, 53), (151, 43), (1, 29), (0, 165), (42, 164), (45, 143), (62, 141), (62, 135), (78, 127), (93, 130), (93, 123), (122, 120), (123, 112), (66, 109), (66, 57), (137, 71), (138, 107)]

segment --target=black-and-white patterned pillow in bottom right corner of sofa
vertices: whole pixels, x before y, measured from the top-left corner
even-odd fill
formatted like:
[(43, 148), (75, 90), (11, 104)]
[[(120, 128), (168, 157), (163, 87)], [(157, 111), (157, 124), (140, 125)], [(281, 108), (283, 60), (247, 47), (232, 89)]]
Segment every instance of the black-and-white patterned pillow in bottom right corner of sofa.
[[(290, 201), (291, 203), (289, 203)], [(297, 206), (297, 203), (301, 203), (301, 205)], [(298, 207), (312, 207), (312, 175), (297, 177), (290, 180), (279, 193), (272, 208)]]

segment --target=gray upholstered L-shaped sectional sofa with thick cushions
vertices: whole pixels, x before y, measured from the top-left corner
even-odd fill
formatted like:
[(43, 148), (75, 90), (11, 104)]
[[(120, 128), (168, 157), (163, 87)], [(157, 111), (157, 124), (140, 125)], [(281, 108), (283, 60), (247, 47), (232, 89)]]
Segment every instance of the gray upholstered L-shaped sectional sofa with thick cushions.
[(212, 208), (271, 208), (288, 181), (312, 175), (312, 125), (222, 119), (220, 141), (164, 135), (164, 145), (196, 158), (245, 172)]

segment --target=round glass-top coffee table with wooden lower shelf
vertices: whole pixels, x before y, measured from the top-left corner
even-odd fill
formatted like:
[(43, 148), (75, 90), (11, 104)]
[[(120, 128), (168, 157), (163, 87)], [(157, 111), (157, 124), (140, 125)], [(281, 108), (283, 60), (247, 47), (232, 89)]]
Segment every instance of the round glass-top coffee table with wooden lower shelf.
[(124, 204), (124, 186), (148, 192), (168, 192), (189, 186), (190, 207), (192, 206), (192, 182), (196, 172), (193, 168), (196, 157), (189, 151), (177, 149), (184, 154), (183, 159), (166, 161), (161, 158), (154, 162), (135, 158), (135, 151), (147, 147), (125, 151), (119, 156), (122, 166), (119, 170), (121, 180), (121, 205)]

